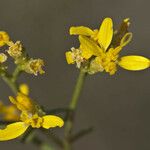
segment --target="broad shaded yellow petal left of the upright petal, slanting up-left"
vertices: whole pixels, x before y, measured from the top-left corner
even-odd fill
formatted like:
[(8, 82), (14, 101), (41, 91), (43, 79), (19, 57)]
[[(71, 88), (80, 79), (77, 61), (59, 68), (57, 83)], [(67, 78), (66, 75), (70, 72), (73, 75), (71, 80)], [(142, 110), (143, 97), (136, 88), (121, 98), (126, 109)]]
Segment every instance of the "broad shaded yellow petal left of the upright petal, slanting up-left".
[(89, 59), (92, 55), (99, 56), (103, 53), (102, 49), (92, 39), (80, 35), (79, 41), (81, 44), (81, 50), (83, 52), (82, 56), (85, 59)]

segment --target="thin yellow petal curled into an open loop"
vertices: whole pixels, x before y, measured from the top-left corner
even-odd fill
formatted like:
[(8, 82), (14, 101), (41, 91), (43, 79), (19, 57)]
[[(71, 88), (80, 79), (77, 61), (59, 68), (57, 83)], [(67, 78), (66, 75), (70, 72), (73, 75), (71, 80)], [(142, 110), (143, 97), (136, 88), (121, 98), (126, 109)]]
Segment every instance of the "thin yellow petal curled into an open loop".
[(126, 46), (131, 40), (132, 40), (132, 33), (128, 32), (121, 39), (120, 46), (122, 47)]

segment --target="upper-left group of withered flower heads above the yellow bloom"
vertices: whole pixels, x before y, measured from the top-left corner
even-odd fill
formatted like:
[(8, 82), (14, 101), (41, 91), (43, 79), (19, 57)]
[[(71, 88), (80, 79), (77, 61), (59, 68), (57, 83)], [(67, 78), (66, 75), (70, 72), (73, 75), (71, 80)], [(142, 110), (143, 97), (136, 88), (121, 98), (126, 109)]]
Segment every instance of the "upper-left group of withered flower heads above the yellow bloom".
[[(0, 32), (0, 47), (7, 46), (7, 54), (0, 53), (0, 69), (3, 70), (4, 62), (7, 60), (7, 57), (10, 56), (14, 59), (15, 64), (18, 66), (20, 71), (25, 71), (29, 74), (38, 75), (43, 74), (44, 70), (44, 61), (42, 59), (33, 59), (28, 56), (25, 48), (20, 41), (13, 42), (10, 40), (9, 35), (1, 31)], [(7, 56), (8, 55), (8, 56)]]

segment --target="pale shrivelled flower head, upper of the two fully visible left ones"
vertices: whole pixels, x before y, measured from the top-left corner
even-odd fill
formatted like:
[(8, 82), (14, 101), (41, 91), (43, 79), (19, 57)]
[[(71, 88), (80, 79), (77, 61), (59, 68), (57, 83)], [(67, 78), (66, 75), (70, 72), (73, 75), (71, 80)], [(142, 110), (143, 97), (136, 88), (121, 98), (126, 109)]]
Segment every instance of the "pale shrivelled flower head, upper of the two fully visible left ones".
[(7, 45), (9, 46), (7, 52), (11, 57), (17, 59), (22, 56), (23, 48), (20, 41), (17, 41), (16, 43), (10, 41)]

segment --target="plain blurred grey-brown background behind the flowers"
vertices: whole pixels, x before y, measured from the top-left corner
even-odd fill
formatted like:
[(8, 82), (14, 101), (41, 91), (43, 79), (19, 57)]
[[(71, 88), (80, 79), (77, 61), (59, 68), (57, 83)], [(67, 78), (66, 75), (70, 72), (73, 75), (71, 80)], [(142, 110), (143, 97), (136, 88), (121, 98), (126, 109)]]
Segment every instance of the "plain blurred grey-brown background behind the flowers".
[[(46, 73), (20, 77), (31, 87), (31, 97), (48, 109), (69, 103), (78, 76), (67, 65), (65, 51), (78, 47), (69, 27), (99, 28), (105, 17), (115, 27), (129, 17), (133, 40), (122, 55), (150, 56), (149, 0), (0, 0), (0, 30), (21, 40), (30, 56), (43, 58)], [(74, 144), (75, 150), (150, 149), (150, 72), (129, 72), (118, 68), (114, 76), (88, 76), (77, 109), (75, 130), (89, 126), (94, 131)], [(11, 90), (0, 80), (0, 99), (9, 103)], [(59, 132), (59, 131), (58, 131)], [(18, 140), (1, 142), (0, 149), (36, 150)]]

